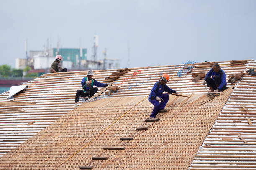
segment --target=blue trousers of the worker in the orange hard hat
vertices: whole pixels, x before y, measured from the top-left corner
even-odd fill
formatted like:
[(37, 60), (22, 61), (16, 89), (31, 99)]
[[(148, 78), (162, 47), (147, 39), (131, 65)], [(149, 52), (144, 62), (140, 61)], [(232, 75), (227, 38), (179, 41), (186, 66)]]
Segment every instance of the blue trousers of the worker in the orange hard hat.
[(148, 99), (149, 102), (151, 102), (154, 105), (154, 109), (153, 109), (152, 114), (150, 115), (150, 117), (156, 118), (156, 115), (159, 112), (159, 110), (164, 109), (164, 107), (166, 106), (166, 104), (169, 100), (169, 94), (167, 94), (167, 93), (159, 95), (158, 97), (162, 98), (164, 101), (159, 103), (159, 101), (157, 101), (154, 98)]

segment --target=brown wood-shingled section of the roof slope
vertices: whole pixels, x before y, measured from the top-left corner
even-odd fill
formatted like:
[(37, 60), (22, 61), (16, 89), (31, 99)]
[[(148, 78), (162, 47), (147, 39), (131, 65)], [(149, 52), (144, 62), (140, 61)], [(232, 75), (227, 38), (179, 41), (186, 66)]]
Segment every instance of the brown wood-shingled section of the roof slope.
[[(84, 103), (4, 155), (0, 169), (75, 170), (90, 164), (95, 170), (186, 170), (232, 91), (229, 88), (211, 101), (204, 94), (171, 95), (169, 112), (159, 113), (159, 122), (143, 122), (153, 108), (147, 97)], [(137, 131), (142, 125), (149, 129)], [(134, 140), (120, 140), (128, 136)], [(108, 160), (92, 161), (92, 156)]]

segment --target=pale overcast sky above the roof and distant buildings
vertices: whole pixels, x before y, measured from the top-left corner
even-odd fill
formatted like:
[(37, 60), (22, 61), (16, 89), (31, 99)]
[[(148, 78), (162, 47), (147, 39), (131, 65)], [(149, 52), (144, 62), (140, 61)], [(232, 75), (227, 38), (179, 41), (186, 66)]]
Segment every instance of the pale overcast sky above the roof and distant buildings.
[(0, 65), (28, 50), (88, 49), (127, 67), (256, 59), (256, 0), (0, 0)]

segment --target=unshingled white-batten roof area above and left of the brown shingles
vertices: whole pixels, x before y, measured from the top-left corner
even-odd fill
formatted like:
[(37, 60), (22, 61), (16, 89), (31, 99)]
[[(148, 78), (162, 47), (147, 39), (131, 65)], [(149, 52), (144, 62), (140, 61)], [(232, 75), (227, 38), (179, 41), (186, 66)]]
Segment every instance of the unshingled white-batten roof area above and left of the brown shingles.
[[(251, 60), (248, 60), (251, 62)], [(232, 61), (218, 62), (227, 75), (243, 72), (247, 64), (233, 65)], [(131, 71), (120, 76), (115, 85), (122, 84), (118, 93), (111, 97), (131, 97), (148, 95), (151, 87), (159, 80), (159, 76), (166, 72), (172, 79), (169, 87), (183, 93), (202, 93), (205, 87), (202, 80), (192, 82), (192, 75), (182, 77), (176, 73), (186, 65), (166, 65), (155, 67), (131, 68)], [(195, 64), (198, 66), (198, 64)], [(195, 68), (192, 73), (207, 72), (210, 67)], [(100, 82), (116, 70), (96, 70), (94, 78)], [(74, 109), (74, 97), (77, 89), (81, 88), (80, 81), (87, 71), (62, 72), (45, 74), (31, 80), (28, 90), (15, 96), (10, 102), (5, 98), (8, 92), (0, 95), (0, 156), (17, 147), (31, 136), (40, 132), (62, 115)], [(228, 83), (228, 86), (231, 84)], [(101, 89), (99, 89), (100, 91)], [(79, 105), (82, 102), (79, 102)]]

